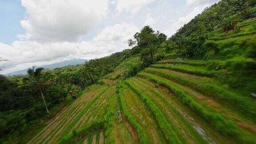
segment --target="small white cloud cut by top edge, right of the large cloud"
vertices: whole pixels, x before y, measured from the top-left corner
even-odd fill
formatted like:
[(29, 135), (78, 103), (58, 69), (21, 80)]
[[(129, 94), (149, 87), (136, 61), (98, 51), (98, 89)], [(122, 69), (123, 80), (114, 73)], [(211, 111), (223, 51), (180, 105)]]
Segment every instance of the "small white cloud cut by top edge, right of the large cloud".
[(116, 10), (136, 14), (142, 7), (156, 0), (117, 0)]

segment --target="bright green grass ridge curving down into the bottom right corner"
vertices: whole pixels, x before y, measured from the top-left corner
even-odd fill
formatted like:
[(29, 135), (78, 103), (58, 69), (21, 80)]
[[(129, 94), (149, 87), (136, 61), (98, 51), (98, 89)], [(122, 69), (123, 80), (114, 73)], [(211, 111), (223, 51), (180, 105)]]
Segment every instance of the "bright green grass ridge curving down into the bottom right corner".
[(214, 111), (212, 108), (209, 108), (203, 103), (196, 102), (192, 98), (192, 96), (186, 94), (180, 88), (176, 88), (171, 84), (168, 84), (164, 80), (160, 80), (152, 75), (139, 73), (139, 76), (143, 76), (148, 80), (156, 81), (158, 84), (164, 85), (172, 92), (176, 94), (176, 96), (182, 101), (182, 103), (187, 104), (193, 111), (202, 116), (205, 120), (207, 120), (213, 128), (215, 128), (218, 132), (236, 138), (240, 142), (253, 143), (256, 138), (250, 136), (248, 132), (245, 132), (243, 129), (239, 128), (232, 120), (226, 119), (220, 113)]

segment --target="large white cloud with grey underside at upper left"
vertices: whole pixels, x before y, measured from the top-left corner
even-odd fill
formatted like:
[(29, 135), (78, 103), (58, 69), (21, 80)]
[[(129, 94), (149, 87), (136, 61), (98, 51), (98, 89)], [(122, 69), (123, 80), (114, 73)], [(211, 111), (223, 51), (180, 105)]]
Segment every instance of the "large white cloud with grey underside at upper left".
[(28, 18), (20, 22), (28, 40), (73, 42), (108, 13), (108, 0), (21, 0)]

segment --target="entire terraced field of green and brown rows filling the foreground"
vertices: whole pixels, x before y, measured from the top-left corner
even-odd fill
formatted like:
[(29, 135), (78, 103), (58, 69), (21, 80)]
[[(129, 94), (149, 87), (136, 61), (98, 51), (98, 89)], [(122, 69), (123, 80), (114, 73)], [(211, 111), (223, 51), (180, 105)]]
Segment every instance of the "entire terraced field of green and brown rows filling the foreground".
[(118, 84), (98, 85), (29, 144), (255, 143), (256, 104), (197, 60), (163, 60)]

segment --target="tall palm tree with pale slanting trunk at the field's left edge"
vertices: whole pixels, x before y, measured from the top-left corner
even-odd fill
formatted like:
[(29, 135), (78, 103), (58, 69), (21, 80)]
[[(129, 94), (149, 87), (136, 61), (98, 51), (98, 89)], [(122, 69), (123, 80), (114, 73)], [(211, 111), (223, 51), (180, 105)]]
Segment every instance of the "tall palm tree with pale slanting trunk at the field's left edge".
[(40, 94), (41, 94), (42, 99), (44, 101), (46, 111), (47, 111), (47, 113), (49, 113), (47, 104), (46, 104), (45, 99), (44, 99), (44, 94), (43, 94), (43, 91), (42, 91), (43, 87), (45, 85), (47, 85), (49, 83), (49, 81), (44, 80), (44, 78), (42, 76), (42, 73), (41, 73), (42, 70), (44, 70), (44, 68), (36, 68), (35, 69), (35, 66), (32, 67), (32, 68), (28, 68), (28, 77), (24, 78), (23, 80), (24, 81), (29, 81), (29, 82), (31, 82), (30, 84), (35, 85), (37, 87), (36, 90), (40, 91)]

